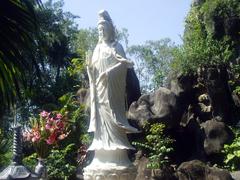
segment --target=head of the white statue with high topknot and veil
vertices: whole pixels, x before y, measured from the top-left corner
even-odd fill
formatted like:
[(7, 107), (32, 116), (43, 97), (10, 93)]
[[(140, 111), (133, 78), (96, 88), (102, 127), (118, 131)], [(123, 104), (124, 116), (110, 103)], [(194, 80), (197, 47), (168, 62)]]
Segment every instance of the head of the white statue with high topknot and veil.
[(114, 42), (115, 41), (115, 27), (113, 26), (112, 19), (106, 10), (101, 10), (98, 13), (98, 33), (99, 42)]

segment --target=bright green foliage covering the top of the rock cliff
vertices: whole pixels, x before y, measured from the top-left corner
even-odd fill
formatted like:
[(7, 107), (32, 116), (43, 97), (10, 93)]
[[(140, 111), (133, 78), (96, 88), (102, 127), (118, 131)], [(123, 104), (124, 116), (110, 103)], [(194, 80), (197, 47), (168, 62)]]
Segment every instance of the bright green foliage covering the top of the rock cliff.
[[(226, 21), (239, 18), (237, 0), (207, 0), (192, 6), (186, 18), (184, 44), (174, 52), (176, 72), (196, 72), (199, 67), (229, 65), (236, 58), (235, 39)], [(218, 26), (221, 28), (217, 28)]]

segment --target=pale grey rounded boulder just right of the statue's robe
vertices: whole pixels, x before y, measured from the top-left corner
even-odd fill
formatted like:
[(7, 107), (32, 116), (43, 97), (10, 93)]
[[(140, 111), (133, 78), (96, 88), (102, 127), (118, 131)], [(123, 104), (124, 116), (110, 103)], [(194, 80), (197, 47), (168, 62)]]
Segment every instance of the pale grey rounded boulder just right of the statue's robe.
[(181, 116), (181, 106), (177, 103), (177, 96), (173, 92), (160, 87), (133, 102), (128, 111), (128, 118), (137, 120), (140, 127), (146, 120), (162, 122), (167, 127), (173, 127), (178, 124)]

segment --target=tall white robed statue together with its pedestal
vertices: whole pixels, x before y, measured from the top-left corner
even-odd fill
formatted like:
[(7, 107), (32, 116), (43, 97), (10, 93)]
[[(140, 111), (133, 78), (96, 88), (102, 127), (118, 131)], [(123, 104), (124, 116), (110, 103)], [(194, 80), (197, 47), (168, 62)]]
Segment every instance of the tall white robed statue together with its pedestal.
[(92, 58), (87, 59), (91, 97), (88, 131), (94, 133), (88, 150), (95, 151), (95, 156), (84, 170), (85, 179), (91, 179), (86, 175), (92, 173), (91, 169), (132, 166), (127, 150), (134, 148), (126, 134), (138, 132), (126, 118), (126, 75), (133, 63), (126, 59), (122, 45), (116, 41), (115, 28), (105, 10), (99, 12), (98, 31), (98, 44)]

